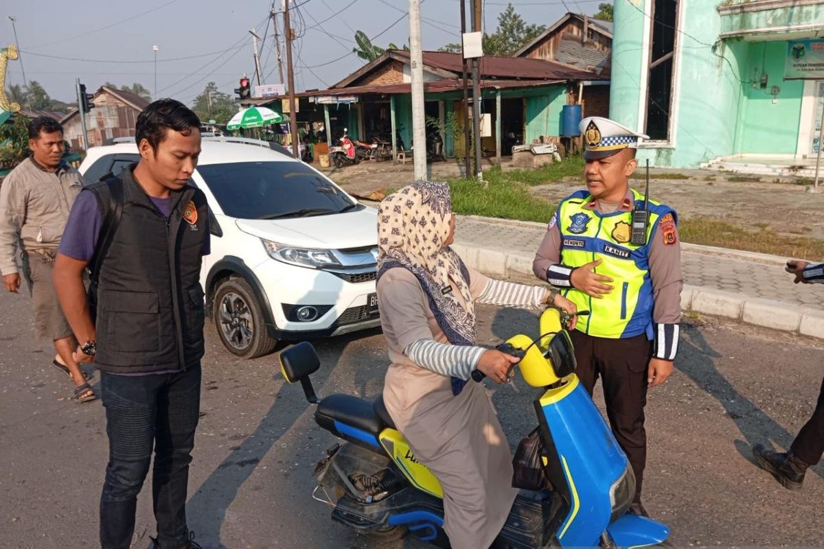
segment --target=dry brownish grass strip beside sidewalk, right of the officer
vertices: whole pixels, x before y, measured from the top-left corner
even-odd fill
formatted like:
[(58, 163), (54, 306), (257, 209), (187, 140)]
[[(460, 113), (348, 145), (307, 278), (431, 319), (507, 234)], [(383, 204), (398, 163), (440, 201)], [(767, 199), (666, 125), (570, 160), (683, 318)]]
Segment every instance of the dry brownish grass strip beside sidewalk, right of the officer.
[(783, 236), (772, 230), (745, 230), (714, 219), (682, 219), (678, 224), (678, 232), (681, 240), (691, 244), (743, 249), (794, 258), (819, 258), (824, 255), (824, 240), (805, 236)]

